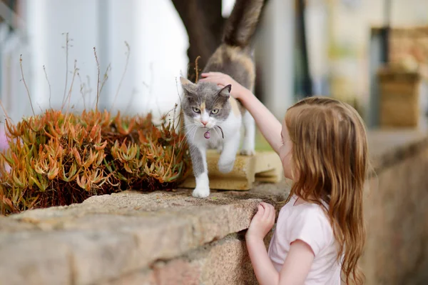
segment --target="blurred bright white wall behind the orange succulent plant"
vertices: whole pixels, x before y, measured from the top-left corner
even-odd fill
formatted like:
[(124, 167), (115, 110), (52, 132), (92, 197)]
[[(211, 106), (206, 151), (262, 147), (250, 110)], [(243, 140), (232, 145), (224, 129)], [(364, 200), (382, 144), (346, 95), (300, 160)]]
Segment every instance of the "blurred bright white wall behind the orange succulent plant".
[[(2, 71), (16, 74), (2, 84), (1, 98), (10, 101), (9, 115), (18, 120), (30, 115), (25, 88), (20, 81), (19, 54), (23, 57), (24, 76), (34, 109), (61, 107), (66, 85), (66, 36), (69, 35), (68, 80), (66, 94), (73, 81), (76, 59), (78, 74), (86, 84), (86, 107), (95, 106), (97, 67), (96, 47), (101, 81), (108, 65), (108, 81), (103, 86), (100, 106), (110, 108), (126, 66), (127, 41), (131, 47), (128, 69), (118, 92), (116, 109), (133, 113), (150, 109), (167, 111), (171, 101), (178, 101), (175, 77), (185, 72), (188, 37), (169, 0), (24, 0), (21, 11), (28, 41), (21, 40), (4, 57), (11, 62)], [(3, 44), (10, 45), (10, 39)], [(6, 60), (4, 60), (6, 62)], [(8, 80), (9, 79), (9, 80)], [(89, 80), (89, 82), (88, 82)], [(71, 89), (71, 106), (83, 108), (81, 81), (76, 76)], [(19, 101), (14, 101), (18, 98)]]

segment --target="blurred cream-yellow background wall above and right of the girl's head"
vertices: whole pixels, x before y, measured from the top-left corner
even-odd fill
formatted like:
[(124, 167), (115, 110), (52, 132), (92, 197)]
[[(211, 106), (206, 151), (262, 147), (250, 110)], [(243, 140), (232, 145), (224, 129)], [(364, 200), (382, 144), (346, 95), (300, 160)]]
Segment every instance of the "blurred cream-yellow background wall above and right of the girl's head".
[[(428, 24), (427, 0), (389, 0), (392, 26)], [(369, 48), (372, 26), (385, 24), (387, 0), (308, 0), (307, 37), (317, 92), (370, 108)], [(324, 85), (322, 85), (324, 84)], [(320, 86), (322, 85), (322, 87)], [(326, 88), (327, 85), (327, 88)]]

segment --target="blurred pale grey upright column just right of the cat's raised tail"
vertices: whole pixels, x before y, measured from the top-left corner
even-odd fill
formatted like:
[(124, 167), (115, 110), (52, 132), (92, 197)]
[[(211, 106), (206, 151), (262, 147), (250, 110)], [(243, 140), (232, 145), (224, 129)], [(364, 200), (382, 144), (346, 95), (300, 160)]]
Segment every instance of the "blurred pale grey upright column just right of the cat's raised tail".
[(294, 52), (294, 1), (270, 0), (256, 36), (255, 60), (263, 103), (278, 119), (295, 101)]

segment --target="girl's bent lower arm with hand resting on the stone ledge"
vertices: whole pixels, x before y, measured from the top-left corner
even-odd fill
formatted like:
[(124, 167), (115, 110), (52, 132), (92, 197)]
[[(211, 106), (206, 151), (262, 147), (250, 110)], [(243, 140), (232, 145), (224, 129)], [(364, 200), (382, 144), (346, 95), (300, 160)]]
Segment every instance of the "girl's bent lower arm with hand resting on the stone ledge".
[(267, 256), (263, 239), (275, 223), (275, 208), (267, 203), (258, 206), (245, 234), (245, 241), (250, 254), (255, 276), (260, 285), (301, 285), (305, 283), (307, 274), (314, 260), (314, 253), (304, 241), (297, 239), (290, 245), (290, 251), (278, 273)]

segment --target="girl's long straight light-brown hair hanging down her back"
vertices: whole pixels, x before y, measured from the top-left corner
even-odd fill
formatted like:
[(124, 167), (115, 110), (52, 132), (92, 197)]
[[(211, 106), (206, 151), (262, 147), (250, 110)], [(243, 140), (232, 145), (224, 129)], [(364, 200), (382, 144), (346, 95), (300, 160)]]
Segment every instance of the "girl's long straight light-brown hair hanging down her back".
[(357, 263), (365, 246), (365, 124), (352, 106), (328, 97), (297, 102), (287, 110), (285, 124), (293, 144), (292, 171), (298, 174), (290, 196), (322, 206), (339, 244), (337, 260), (344, 254), (346, 283), (362, 284), (365, 277)]

